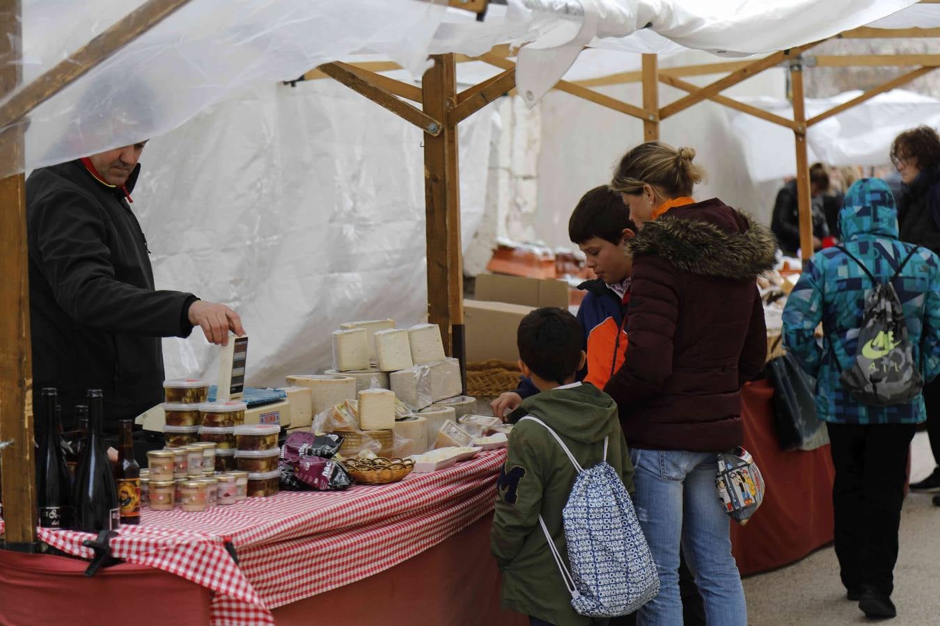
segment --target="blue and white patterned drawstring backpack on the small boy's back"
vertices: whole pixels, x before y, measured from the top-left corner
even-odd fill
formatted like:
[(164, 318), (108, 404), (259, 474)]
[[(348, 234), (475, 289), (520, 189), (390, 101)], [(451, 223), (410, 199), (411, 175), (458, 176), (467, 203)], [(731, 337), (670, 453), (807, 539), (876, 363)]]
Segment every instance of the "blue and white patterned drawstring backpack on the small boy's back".
[(659, 575), (630, 495), (617, 470), (607, 463), (607, 438), (603, 439), (603, 460), (584, 469), (545, 422), (531, 415), (522, 420), (540, 423), (578, 472), (562, 511), (570, 572), (539, 516), (558, 571), (572, 594), (574, 611), (591, 618), (633, 613), (659, 593)]

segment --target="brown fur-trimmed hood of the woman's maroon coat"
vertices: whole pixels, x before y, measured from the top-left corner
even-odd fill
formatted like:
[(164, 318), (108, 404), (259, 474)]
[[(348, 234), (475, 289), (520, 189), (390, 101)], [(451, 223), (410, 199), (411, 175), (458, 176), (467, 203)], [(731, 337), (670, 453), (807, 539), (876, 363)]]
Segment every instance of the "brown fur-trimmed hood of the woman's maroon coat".
[(659, 254), (679, 269), (731, 280), (755, 280), (776, 265), (770, 229), (717, 198), (670, 209), (646, 222), (629, 251)]

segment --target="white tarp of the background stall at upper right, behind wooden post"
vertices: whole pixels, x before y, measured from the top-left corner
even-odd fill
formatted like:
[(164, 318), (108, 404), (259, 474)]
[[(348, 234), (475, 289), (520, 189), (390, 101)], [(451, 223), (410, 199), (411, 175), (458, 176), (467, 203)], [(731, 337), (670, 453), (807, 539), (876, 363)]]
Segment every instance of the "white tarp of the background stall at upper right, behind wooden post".
[[(807, 99), (807, 117), (819, 115), (861, 95), (850, 91), (832, 98)], [(792, 118), (785, 99), (740, 98), (770, 113)], [(796, 173), (793, 132), (762, 119), (727, 110), (742, 146), (747, 171), (756, 181), (774, 180)], [(809, 128), (810, 161), (828, 165), (887, 165), (891, 142), (903, 130), (920, 124), (940, 129), (940, 99), (894, 89)]]

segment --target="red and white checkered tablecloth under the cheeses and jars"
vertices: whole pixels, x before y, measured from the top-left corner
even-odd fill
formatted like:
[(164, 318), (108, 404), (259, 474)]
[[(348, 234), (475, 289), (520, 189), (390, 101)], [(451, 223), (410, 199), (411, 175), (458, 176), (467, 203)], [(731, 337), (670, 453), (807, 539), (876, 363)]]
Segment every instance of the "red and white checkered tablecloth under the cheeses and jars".
[[(120, 528), (112, 554), (210, 588), (213, 624), (274, 624), (270, 608), (382, 572), (492, 511), (505, 459), (505, 450), (481, 452), (392, 484), (282, 492), (205, 512), (145, 510), (140, 526)], [(82, 546), (89, 537), (39, 528), (41, 541), (78, 557), (92, 556)]]

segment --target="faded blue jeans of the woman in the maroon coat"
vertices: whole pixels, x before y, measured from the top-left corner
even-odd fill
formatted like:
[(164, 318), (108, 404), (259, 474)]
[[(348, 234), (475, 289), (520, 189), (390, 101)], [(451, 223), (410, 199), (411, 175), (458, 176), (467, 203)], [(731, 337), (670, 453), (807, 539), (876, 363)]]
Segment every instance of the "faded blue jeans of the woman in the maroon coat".
[(747, 606), (731, 556), (730, 518), (715, 494), (712, 452), (630, 450), (636, 517), (650, 543), (660, 590), (637, 614), (639, 626), (682, 624), (679, 550), (695, 575), (709, 624), (745, 626)]

